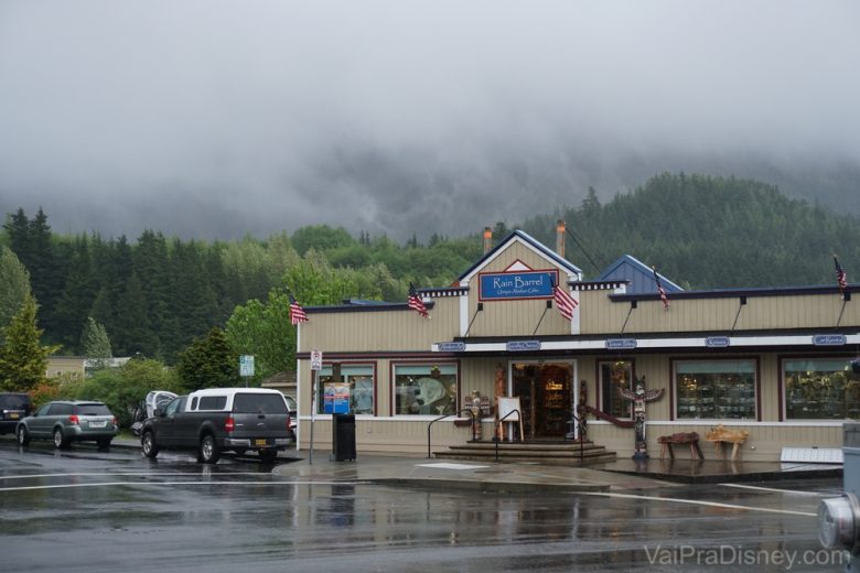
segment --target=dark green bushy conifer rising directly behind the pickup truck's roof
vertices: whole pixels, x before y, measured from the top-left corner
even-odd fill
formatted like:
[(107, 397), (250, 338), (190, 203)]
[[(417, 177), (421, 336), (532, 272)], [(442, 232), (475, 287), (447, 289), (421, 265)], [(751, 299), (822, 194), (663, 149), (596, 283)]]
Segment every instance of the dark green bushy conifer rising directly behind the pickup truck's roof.
[(224, 331), (213, 327), (180, 354), (176, 374), (189, 391), (238, 386), (239, 355), (230, 347)]

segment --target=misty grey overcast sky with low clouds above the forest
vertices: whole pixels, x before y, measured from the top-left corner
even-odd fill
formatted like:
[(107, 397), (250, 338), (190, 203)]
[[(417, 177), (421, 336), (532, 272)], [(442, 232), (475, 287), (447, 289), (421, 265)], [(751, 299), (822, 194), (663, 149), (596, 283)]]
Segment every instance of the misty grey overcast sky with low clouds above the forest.
[(0, 0), (0, 209), (460, 236), (665, 170), (857, 167), (859, 63), (853, 0)]

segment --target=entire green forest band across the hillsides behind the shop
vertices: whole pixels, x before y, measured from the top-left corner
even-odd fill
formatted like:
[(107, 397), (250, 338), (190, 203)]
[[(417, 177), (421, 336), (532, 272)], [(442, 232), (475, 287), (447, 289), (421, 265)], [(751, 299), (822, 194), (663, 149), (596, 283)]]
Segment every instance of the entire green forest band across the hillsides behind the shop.
[[(523, 228), (552, 247), (558, 218), (570, 230), (567, 258), (587, 279), (625, 253), (687, 289), (834, 283), (832, 253), (849, 281), (860, 272), (857, 217), (788, 199), (755, 181), (666, 173), (605, 205), (590, 190), (576, 207), (510, 227), (496, 223), (493, 238)], [(92, 317), (114, 356), (173, 364), (213, 326), (273, 293), (289, 290), (304, 305), (406, 301), (409, 283), (451, 284), (481, 257), (480, 230), (433, 236), (426, 245), (416, 237), (404, 245), (364, 231), (354, 237), (327, 225), (215, 242), (147, 230), (129, 241), (58, 235), (42, 209), (32, 217), (19, 209), (7, 215), (0, 245), (29, 271), (43, 338), (62, 345), (61, 354), (82, 352)]]

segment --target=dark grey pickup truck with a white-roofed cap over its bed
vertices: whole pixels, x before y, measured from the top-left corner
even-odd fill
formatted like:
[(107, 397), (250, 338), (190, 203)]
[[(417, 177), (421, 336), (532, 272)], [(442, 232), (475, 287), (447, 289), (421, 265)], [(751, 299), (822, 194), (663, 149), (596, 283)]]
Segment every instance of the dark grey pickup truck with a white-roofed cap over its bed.
[(196, 451), (197, 462), (214, 464), (222, 452), (257, 452), (270, 463), (295, 434), (283, 394), (262, 388), (209, 388), (180, 396), (143, 421), (143, 455), (161, 450)]

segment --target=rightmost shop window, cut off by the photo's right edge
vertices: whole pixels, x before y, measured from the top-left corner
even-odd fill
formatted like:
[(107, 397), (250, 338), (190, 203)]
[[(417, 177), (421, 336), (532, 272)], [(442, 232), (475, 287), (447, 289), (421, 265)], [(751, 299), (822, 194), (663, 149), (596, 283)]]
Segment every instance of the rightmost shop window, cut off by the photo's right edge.
[(860, 376), (851, 360), (785, 360), (785, 418), (842, 420), (860, 418)]

